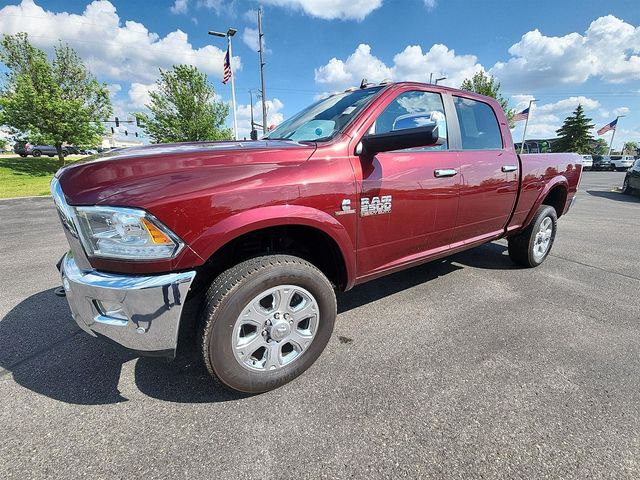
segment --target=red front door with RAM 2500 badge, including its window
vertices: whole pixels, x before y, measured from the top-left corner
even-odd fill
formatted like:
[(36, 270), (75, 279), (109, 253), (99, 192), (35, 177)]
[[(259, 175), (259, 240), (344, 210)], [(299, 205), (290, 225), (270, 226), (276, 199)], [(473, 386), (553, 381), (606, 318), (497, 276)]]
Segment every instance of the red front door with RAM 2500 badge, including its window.
[(448, 150), (440, 93), (398, 94), (372, 122), (379, 134), (437, 123), (442, 144), (352, 159), (359, 192), (357, 271), (371, 277), (449, 248), (456, 225), (460, 165)]

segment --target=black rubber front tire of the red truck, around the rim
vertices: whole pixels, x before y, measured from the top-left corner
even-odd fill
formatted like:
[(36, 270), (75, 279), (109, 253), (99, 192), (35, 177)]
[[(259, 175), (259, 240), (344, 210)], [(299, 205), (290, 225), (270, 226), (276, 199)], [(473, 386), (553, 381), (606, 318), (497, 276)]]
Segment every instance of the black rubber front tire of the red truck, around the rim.
[[(278, 285), (300, 286), (313, 295), (320, 312), (318, 329), (311, 345), (290, 365), (273, 372), (252, 372), (235, 358), (232, 347), (234, 326), (242, 310), (253, 298)], [(247, 277), (225, 296), (215, 311), (205, 314), (214, 316), (206, 355), (216, 376), (235, 390), (260, 393), (290, 382), (317, 360), (333, 332), (336, 300), (331, 285), (319, 272), (302, 264), (287, 263), (274, 265)]]

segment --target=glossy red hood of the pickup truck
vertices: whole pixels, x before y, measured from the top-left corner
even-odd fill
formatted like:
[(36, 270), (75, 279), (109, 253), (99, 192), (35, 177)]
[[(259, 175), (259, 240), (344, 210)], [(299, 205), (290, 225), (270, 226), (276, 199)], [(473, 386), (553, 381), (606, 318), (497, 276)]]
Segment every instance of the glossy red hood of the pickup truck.
[[(282, 140), (193, 142), (111, 150), (56, 173), (71, 205), (141, 206), (142, 201), (220, 187), (307, 161), (315, 143)], [(135, 198), (132, 204), (129, 200)]]

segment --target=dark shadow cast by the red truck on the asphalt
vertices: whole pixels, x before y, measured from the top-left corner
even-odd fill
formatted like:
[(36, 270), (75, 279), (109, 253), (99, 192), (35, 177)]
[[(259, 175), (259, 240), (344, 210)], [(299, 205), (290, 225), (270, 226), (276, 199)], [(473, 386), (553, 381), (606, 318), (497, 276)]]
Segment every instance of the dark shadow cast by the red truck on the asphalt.
[[(338, 311), (346, 312), (465, 266), (515, 268), (501, 255), (504, 250), (502, 245), (488, 244), (374, 280), (339, 295)], [(245, 397), (213, 382), (194, 348), (182, 351), (186, 353), (168, 362), (138, 357), (93, 338), (73, 323), (65, 299), (56, 297), (53, 289), (23, 300), (0, 319), (0, 378), (11, 375), (19, 385), (54, 400), (105, 405), (129, 401), (128, 396), (135, 401), (140, 393), (180, 403)], [(131, 364), (133, 379), (126, 374), (131, 361), (135, 361)]]

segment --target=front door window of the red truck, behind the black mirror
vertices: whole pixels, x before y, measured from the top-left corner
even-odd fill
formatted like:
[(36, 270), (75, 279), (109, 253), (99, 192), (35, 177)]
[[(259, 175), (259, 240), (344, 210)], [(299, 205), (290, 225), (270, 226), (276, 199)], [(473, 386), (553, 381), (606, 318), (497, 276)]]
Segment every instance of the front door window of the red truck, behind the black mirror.
[(412, 148), (416, 150), (446, 150), (447, 122), (439, 93), (410, 91), (398, 95), (378, 116), (371, 133), (387, 133), (406, 128), (438, 126), (439, 145)]

